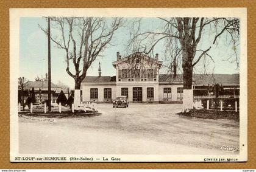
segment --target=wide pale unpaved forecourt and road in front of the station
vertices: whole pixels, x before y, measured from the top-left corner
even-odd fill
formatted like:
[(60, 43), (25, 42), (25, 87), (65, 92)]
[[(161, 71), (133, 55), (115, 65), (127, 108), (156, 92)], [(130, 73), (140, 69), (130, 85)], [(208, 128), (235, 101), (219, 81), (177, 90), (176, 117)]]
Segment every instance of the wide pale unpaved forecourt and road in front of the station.
[[(94, 117), (19, 117), (19, 151), (26, 154), (230, 154), (239, 123), (177, 115), (182, 105), (98, 104)], [(233, 153), (231, 153), (233, 154)]]

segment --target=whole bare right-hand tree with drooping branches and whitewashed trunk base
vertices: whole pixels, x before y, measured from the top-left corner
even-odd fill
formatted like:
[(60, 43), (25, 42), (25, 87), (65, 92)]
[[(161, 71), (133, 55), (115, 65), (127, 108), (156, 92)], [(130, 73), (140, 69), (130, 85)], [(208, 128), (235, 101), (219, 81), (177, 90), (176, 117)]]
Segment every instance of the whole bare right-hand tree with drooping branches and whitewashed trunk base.
[[(239, 35), (240, 21), (238, 18), (158, 18), (162, 20), (162, 26), (157, 31), (141, 31), (141, 19), (133, 21), (132, 36), (129, 40), (129, 48), (143, 53), (152, 53), (155, 46), (165, 41), (166, 52), (171, 53), (169, 57), (169, 69), (176, 75), (180, 66), (183, 73), (183, 111), (193, 108), (193, 69), (202, 59), (213, 57), (208, 53), (213, 45), (218, 44), (221, 36), (233, 45), (234, 55), (229, 60), (235, 61), (239, 67), (239, 58), (236, 54)], [(213, 36), (208, 40), (210, 46), (200, 49), (198, 44), (202, 41), (204, 33)], [(224, 36), (223, 36), (224, 35)], [(148, 43), (147, 43), (148, 42)], [(171, 52), (170, 52), (171, 50)], [(166, 55), (166, 54), (165, 54)]]

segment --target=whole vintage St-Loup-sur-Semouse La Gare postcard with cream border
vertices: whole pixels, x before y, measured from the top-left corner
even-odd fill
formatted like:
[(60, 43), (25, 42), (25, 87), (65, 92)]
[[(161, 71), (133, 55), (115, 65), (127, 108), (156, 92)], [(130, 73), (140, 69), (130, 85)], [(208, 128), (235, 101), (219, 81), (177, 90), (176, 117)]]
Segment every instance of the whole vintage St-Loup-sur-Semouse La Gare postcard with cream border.
[(246, 161), (246, 30), (245, 8), (10, 9), (10, 161)]

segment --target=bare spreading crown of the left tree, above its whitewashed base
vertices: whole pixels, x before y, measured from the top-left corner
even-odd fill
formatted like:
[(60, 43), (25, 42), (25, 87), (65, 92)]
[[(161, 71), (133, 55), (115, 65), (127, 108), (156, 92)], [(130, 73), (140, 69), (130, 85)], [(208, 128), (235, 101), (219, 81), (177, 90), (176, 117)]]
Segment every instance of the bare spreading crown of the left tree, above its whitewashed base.
[[(57, 32), (51, 35), (51, 40), (65, 50), (66, 72), (74, 78), (74, 88), (80, 89), (88, 68), (111, 45), (110, 41), (116, 30), (123, 25), (123, 19), (113, 18), (111, 22), (107, 18), (52, 17), (51, 21), (51, 32)], [(48, 30), (40, 28), (48, 33)], [(74, 72), (71, 71), (70, 63), (73, 63)]]

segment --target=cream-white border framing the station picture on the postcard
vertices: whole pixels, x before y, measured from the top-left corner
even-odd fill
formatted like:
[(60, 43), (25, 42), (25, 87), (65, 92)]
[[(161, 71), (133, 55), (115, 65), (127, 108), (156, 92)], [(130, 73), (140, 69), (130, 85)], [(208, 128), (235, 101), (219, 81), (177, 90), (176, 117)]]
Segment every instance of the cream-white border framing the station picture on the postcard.
[[(117, 156), (122, 162), (204, 162), (204, 158), (236, 158), (238, 161), (247, 160), (247, 9), (246, 8), (148, 8), (148, 9), (10, 9), (10, 161), (24, 162), (15, 160), (15, 157), (45, 157), (45, 156), (66, 156), (74, 157), (80, 155), (71, 154), (19, 154), (18, 153), (18, 87), (17, 78), (19, 67), (20, 52), (20, 17), (41, 17), (41, 16), (125, 16), (125, 17), (236, 17), (240, 18), (240, 154), (238, 155), (110, 155), (105, 157)], [(242, 146), (244, 145), (244, 146)], [(86, 157), (102, 157), (99, 154), (87, 154)], [(25, 161), (29, 162), (29, 161)], [(33, 162), (37, 162), (34, 160)], [(42, 162), (42, 161), (38, 161)], [(43, 162), (48, 162), (43, 161)], [(55, 161), (56, 162), (56, 161)], [(65, 161), (65, 162), (69, 162)], [(80, 161), (79, 161), (80, 162)], [(93, 160), (93, 162), (100, 162)], [(102, 161), (101, 161), (102, 162)], [(109, 162), (109, 161), (108, 161)]]

